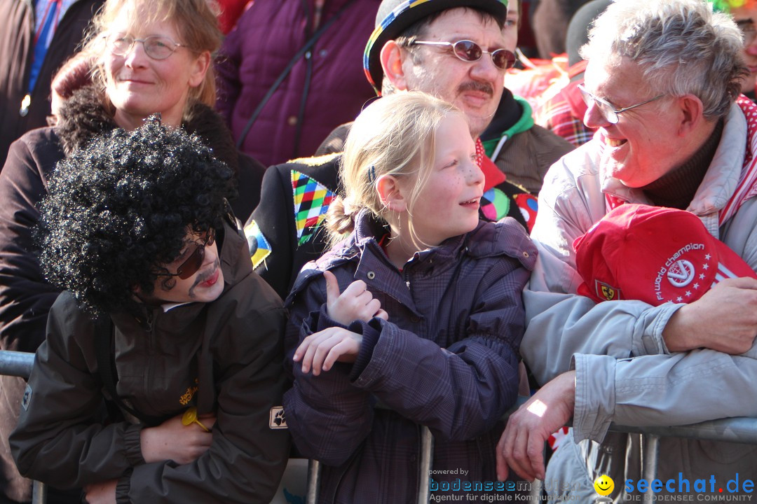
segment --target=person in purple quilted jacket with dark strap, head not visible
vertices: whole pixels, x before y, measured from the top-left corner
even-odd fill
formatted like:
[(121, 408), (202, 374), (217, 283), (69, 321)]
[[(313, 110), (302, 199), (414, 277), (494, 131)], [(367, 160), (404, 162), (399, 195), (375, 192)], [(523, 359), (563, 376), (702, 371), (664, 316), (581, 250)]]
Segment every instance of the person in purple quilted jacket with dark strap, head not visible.
[(217, 109), (265, 165), (312, 156), (374, 97), (361, 66), (379, 0), (254, 2), (223, 42)]

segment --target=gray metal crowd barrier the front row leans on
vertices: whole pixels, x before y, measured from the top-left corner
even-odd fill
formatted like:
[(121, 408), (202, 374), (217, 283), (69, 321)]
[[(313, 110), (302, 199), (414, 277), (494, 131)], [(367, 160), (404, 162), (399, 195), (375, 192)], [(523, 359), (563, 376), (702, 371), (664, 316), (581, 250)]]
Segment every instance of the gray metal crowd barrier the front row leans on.
[[(34, 354), (0, 350), (0, 375), (19, 376), (28, 379), (34, 364)], [(509, 413), (515, 412), (526, 398), (520, 397), (518, 402)], [(507, 413), (506, 416), (509, 416)], [(643, 475), (646, 481), (656, 479), (657, 459), (659, 456), (659, 438), (692, 438), (708, 441), (727, 441), (731, 443), (757, 444), (757, 418), (730, 418), (710, 420), (692, 425), (673, 425), (668, 427), (629, 427), (627, 425), (615, 425), (609, 428), (614, 432), (628, 434), (642, 434), (643, 436)], [(431, 471), (431, 462), (434, 453), (434, 437), (427, 427), (422, 428), (421, 433), (421, 459), (419, 481), (425, 481)], [(307, 474), (306, 504), (316, 504), (318, 499), (318, 487), (320, 484), (320, 462), (311, 460)], [(535, 487), (538, 488), (537, 485)], [(651, 495), (651, 486), (647, 493)], [(418, 490), (418, 504), (427, 504), (430, 492), (427, 485), (420, 485)], [(45, 504), (47, 502), (47, 488), (39, 481), (34, 482), (32, 503)]]

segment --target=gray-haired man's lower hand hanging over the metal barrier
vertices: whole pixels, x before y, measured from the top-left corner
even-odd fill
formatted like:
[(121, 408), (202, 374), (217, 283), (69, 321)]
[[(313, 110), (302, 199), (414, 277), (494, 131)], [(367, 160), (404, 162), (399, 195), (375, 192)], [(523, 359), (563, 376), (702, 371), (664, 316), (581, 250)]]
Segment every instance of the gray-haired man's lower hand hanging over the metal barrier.
[(544, 480), (544, 442), (568, 422), (574, 405), (575, 371), (569, 371), (544, 385), (519, 407), (497, 443), (497, 478), (507, 478), (509, 465), (521, 478)]

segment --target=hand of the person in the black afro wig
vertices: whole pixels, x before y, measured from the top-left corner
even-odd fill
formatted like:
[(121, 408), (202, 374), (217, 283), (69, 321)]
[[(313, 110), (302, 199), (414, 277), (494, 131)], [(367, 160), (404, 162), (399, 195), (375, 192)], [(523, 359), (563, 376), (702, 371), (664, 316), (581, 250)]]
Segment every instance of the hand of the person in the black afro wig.
[[(201, 415), (198, 420), (208, 430), (212, 430), (216, 416)], [(139, 441), (142, 458), (147, 463), (173, 460), (179, 464), (188, 464), (195, 462), (210, 448), (213, 434), (204, 431), (196, 423), (182, 424), (182, 415), (177, 415), (156, 427), (143, 428)]]

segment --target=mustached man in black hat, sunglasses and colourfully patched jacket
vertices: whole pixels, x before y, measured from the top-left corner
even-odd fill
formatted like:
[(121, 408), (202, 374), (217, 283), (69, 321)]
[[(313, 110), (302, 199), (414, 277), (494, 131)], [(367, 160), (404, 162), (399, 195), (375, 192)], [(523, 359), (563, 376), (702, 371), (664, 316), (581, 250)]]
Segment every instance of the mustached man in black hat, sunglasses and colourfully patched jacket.
[[(517, 2), (506, 0), (384, 0), (363, 67), (378, 94), (425, 91), (463, 110), (486, 176), (481, 217), (509, 215), (530, 229), (536, 199), (506, 179), (526, 173), (538, 187), (547, 167), (573, 147), (534, 126), (525, 102), (503, 87), (505, 70), (515, 62), (517, 20)], [(498, 131), (487, 131), (492, 124)], [(245, 233), (256, 271), (282, 296), (300, 268), (326, 248), (321, 226), (338, 187), (348, 128), (322, 144), (329, 155), (273, 166), (263, 179)]]

